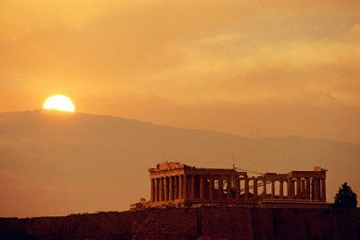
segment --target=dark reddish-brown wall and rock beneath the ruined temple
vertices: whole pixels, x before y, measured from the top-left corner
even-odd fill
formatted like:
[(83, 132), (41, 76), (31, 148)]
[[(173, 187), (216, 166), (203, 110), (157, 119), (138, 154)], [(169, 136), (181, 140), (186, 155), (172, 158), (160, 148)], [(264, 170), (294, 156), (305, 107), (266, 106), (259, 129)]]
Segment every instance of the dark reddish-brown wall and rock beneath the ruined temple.
[(202, 207), (0, 219), (0, 239), (360, 239), (360, 209)]

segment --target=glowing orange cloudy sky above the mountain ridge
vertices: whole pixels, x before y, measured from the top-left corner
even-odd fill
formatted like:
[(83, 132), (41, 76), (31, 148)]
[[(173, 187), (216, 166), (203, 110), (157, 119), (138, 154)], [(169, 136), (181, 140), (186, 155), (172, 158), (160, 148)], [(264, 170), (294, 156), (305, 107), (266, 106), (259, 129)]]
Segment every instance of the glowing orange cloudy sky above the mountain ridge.
[(0, 111), (360, 141), (360, 2), (0, 1)]

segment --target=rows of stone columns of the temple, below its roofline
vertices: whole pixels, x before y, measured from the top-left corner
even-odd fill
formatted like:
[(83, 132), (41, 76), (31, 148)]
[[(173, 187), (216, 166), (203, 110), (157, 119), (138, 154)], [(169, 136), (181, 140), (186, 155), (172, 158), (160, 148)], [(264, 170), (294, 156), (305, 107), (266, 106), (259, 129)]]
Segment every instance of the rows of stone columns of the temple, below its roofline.
[[(215, 187), (215, 181), (217, 186)], [(240, 188), (244, 181), (244, 188)], [(250, 181), (253, 183), (250, 186)], [(275, 182), (279, 181), (279, 195), (276, 195)], [(224, 189), (223, 183), (227, 188)], [(287, 183), (287, 196), (284, 194), (284, 182)], [(267, 185), (271, 186), (271, 194), (267, 194)], [(259, 196), (258, 188), (263, 186)], [(266, 180), (264, 177), (247, 178), (238, 175), (175, 175), (151, 179), (151, 201), (195, 200), (200, 201), (248, 201), (252, 190), (252, 199), (257, 198), (295, 198), (316, 201), (326, 200), (325, 179), (289, 178), (288, 180)], [(243, 194), (241, 194), (243, 193)]]

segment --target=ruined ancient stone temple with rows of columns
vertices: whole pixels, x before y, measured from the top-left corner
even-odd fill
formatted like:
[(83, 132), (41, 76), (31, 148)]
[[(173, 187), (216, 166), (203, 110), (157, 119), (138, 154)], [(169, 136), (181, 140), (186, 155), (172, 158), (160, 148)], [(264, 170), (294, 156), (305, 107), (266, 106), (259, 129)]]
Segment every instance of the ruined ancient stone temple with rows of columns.
[[(163, 162), (148, 169), (151, 198), (132, 204), (137, 208), (196, 205), (325, 206), (326, 172), (264, 173), (249, 176), (232, 169), (197, 168)], [(302, 208), (301, 207), (301, 208)]]

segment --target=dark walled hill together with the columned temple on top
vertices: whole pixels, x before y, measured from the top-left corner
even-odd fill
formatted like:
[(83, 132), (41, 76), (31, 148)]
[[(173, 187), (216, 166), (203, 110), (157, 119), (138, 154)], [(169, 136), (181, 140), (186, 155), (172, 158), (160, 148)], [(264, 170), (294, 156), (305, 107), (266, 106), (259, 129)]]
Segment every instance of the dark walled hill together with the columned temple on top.
[(0, 218), (0, 239), (360, 239), (360, 209), (326, 203), (320, 167), (255, 177), (163, 162), (148, 171), (151, 199), (130, 211)]

